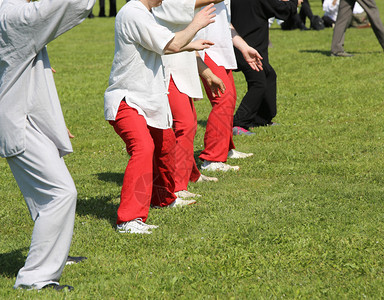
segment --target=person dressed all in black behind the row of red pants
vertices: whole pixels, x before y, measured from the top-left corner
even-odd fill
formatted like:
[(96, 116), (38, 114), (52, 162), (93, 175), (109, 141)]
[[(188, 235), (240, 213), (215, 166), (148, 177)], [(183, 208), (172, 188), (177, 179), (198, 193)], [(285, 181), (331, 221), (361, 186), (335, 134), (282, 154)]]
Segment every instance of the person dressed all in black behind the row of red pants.
[(238, 132), (247, 132), (250, 127), (273, 125), (276, 116), (276, 73), (269, 63), (268, 19), (275, 17), (286, 20), (296, 14), (297, 0), (232, 0), (232, 23), (239, 35), (259, 51), (263, 57), (263, 69), (252, 69), (235, 49), (238, 71), (242, 71), (248, 84), (248, 91), (233, 118)]

